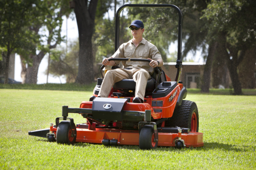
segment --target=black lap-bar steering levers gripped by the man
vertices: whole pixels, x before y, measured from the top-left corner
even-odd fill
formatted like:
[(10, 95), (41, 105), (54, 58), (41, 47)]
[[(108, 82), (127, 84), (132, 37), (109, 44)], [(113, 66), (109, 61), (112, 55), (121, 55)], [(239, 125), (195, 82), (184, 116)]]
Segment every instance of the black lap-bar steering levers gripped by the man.
[[(148, 59), (140, 59), (140, 58), (109, 58), (108, 61), (134, 61), (134, 62), (151, 62), (151, 60), (148, 60)], [(102, 65), (100, 67), (100, 74), (101, 74), (101, 77), (102, 79), (104, 79), (104, 76), (103, 76), (103, 73), (102, 73), (102, 70), (104, 69), (105, 65)], [(156, 83), (155, 83), (155, 87), (156, 87), (156, 90), (157, 91), (157, 85), (158, 85), (158, 82), (160, 80), (160, 76), (161, 76), (161, 71), (158, 69), (158, 67), (155, 67), (156, 68), (156, 71), (158, 73), (157, 75), (157, 80), (156, 80)]]

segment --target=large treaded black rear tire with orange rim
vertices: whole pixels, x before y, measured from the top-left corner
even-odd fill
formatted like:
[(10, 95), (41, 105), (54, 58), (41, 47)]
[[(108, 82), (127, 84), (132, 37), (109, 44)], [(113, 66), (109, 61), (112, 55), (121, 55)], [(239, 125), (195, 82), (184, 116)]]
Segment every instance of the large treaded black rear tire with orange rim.
[(172, 117), (165, 121), (166, 127), (189, 128), (190, 132), (198, 132), (199, 117), (196, 103), (182, 100), (179, 107), (174, 109)]

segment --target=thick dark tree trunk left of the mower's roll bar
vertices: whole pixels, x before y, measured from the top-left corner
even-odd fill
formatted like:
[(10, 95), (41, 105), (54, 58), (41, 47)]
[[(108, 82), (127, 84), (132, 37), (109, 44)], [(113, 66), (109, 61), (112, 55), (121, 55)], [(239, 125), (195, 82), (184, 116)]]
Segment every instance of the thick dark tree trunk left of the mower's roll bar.
[(75, 14), (79, 34), (79, 65), (77, 83), (90, 84), (94, 81), (92, 35), (98, 0), (75, 0)]

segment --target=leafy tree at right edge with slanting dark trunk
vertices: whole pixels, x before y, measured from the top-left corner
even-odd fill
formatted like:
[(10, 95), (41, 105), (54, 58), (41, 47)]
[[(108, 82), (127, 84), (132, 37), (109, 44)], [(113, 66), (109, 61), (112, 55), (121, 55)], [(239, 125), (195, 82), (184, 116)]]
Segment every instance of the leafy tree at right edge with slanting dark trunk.
[(252, 0), (212, 1), (204, 10), (203, 18), (210, 21), (209, 36), (220, 43), (219, 55), (227, 63), (235, 95), (242, 94), (238, 65), (245, 52), (256, 45), (255, 10), (256, 2)]

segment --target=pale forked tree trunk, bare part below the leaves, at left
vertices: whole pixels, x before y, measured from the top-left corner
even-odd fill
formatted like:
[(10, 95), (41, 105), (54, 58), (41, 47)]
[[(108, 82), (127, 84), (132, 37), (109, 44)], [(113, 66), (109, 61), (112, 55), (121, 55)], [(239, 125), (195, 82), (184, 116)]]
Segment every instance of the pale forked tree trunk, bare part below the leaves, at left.
[(44, 55), (45, 55), (44, 52), (40, 52), (38, 55), (30, 55), (30, 58), (32, 58), (33, 60), (33, 65), (32, 66), (28, 65), (25, 83), (28, 83), (28, 84), (37, 83), (38, 69)]

